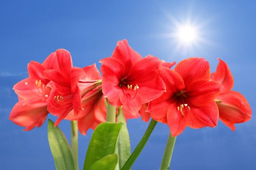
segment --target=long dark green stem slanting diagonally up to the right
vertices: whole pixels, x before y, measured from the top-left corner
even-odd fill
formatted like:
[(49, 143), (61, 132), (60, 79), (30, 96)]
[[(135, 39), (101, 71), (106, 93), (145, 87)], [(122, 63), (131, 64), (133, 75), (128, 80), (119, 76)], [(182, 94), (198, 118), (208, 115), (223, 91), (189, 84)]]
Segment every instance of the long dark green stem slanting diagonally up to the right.
[(153, 132), (156, 125), (157, 125), (157, 121), (152, 119), (150, 121), (149, 125), (148, 125), (148, 128), (147, 128), (145, 134), (143, 135), (143, 137), (139, 141), (138, 146), (136, 147), (134, 152), (130, 155), (128, 160), (125, 162), (125, 164), (124, 164), (124, 166), (122, 167), (121, 170), (130, 170), (131, 169), (133, 163), (135, 162), (139, 153), (142, 151), (142, 149), (146, 145), (146, 143), (148, 141), (148, 138), (151, 135), (151, 133)]

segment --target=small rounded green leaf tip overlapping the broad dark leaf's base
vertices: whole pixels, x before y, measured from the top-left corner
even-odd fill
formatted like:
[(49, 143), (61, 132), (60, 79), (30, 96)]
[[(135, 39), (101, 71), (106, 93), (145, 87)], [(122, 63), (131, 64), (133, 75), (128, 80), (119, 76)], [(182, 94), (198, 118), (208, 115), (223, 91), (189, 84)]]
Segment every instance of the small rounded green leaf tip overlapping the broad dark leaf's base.
[(109, 154), (96, 161), (90, 170), (114, 170), (118, 163), (118, 155)]

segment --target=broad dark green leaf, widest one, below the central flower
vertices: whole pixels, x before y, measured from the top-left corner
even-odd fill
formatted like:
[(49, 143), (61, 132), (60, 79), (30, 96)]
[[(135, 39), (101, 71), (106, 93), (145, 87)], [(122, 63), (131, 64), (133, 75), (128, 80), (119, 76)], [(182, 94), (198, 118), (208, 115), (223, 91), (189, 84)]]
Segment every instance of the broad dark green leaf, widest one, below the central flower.
[(103, 122), (97, 126), (87, 149), (83, 170), (89, 170), (99, 159), (115, 153), (122, 125), (123, 123)]

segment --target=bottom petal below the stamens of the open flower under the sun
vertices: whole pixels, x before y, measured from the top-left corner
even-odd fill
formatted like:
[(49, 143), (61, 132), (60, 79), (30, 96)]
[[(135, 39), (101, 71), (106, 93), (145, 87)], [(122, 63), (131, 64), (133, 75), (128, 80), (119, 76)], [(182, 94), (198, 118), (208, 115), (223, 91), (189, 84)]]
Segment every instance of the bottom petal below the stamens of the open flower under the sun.
[(177, 103), (172, 104), (167, 111), (167, 121), (172, 136), (181, 134), (187, 126), (187, 117), (182, 116), (177, 110)]

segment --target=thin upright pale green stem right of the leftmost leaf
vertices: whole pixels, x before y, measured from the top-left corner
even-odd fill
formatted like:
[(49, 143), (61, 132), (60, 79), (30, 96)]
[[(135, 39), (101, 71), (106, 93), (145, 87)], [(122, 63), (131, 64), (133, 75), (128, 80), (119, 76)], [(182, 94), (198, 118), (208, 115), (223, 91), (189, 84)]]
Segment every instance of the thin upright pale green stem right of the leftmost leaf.
[(74, 161), (77, 166), (77, 170), (79, 170), (78, 164), (78, 121), (71, 120), (71, 150), (74, 157)]

